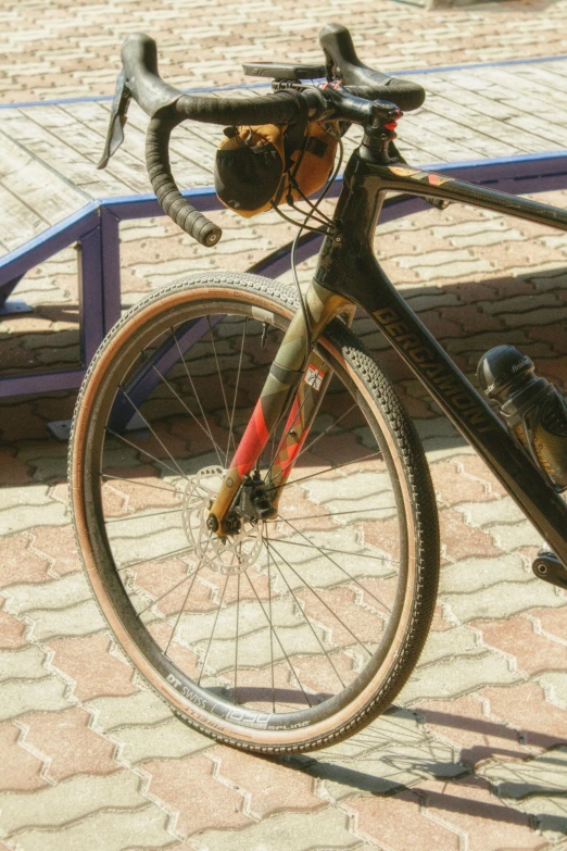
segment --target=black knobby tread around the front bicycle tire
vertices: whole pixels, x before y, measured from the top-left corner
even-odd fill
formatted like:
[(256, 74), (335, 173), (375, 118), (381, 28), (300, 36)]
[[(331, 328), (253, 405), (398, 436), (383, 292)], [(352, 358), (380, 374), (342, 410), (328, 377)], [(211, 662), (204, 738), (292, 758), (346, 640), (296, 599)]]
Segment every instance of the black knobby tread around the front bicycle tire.
[[(149, 304), (160, 302), (164, 297), (167, 297), (171, 293), (177, 293), (179, 291), (189, 289), (193, 285), (203, 285), (204, 283), (214, 285), (215, 288), (218, 286), (223, 288), (226, 287), (227, 296), (229, 296), (230, 290), (235, 288), (239, 290), (252, 290), (254, 292), (259, 292), (259, 295), (262, 295), (263, 297), (268, 296), (276, 303), (279, 303), (288, 309), (299, 309), (297, 293), (291, 288), (282, 286), (278, 281), (274, 281), (269, 278), (263, 278), (257, 275), (228, 272), (200, 273), (197, 275), (178, 278), (175, 281), (172, 281), (172, 284), (161, 288), (158, 292), (149, 293), (147, 297), (137, 302), (137, 304), (127, 311), (127, 313), (116, 323), (116, 325), (114, 325), (112, 330), (105, 337), (97, 353), (94, 354), (81, 384), (71, 429), (67, 471), (70, 483), (73, 481), (72, 458), (75, 441), (77, 440), (77, 435), (75, 434), (77, 412), (80, 409), (87, 384), (90, 381), (90, 378), (94, 373), (103, 352), (112, 343), (123, 327), (127, 325), (130, 318), (139, 311), (143, 310)], [(400, 458), (405, 470), (406, 481), (410, 489), (411, 504), (414, 515), (413, 524), (416, 531), (416, 562), (418, 565), (418, 573), (415, 584), (411, 626), (405, 633), (395, 664), (391, 667), (387, 678), (382, 683), (381, 688), (375, 692), (371, 700), (368, 701), (366, 705), (360, 710), (356, 715), (348, 723), (342, 724), (340, 727), (336, 728), (324, 737), (318, 737), (306, 742), (300, 742), (299, 744), (285, 746), (254, 744), (248, 741), (244, 743), (223, 733), (218, 733), (209, 727), (205, 727), (204, 725), (187, 717), (181, 712), (173, 708), (169, 701), (160, 692), (160, 690), (153, 686), (143, 674), (141, 674), (142, 678), (151, 688), (151, 690), (154, 691), (164, 703), (166, 703), (174, 715), (180, 718), (188, 726), (223, 744), (264, 755), (304, 753), (329, 747), (354, 735), (358, 729), (367, 726), (367, 724), (380, 715), (391, 704), (393, 698), (405, 685), (419, 659), (429, 633), (437, 599), (439, 578), (438, 512), (429, 467), (415, 425), (405, 410), (390, 378), (385, 373), (382, 367), (379, 366), (375, 361), (373, 355), (366, 349), (365, 345), (352, 333), (352, 330), (336, 320), (327, 329), (326, 336), (330, 341), (333, 342), (336, 348), (342, 352), (345, 360), (355, 367), (356, 372), (366, 385), (366, 388), (371, 393), (377, 408), (381, 410), (386, 422), (390, 426), (392, 434), (395, 436), (396, 445), (400, 451)], [(80, 542), (75, 524), (74, 533), (77, 550), (80, 553)], [(99, 603), (96, 595), (94, 598), (97, 599), (99, 611), (102, 614), (102, 606)], [(104, 617), (104, 615), (102, 616)], [(111, 628), (112, 631), (112, 627), (109, 628)]]

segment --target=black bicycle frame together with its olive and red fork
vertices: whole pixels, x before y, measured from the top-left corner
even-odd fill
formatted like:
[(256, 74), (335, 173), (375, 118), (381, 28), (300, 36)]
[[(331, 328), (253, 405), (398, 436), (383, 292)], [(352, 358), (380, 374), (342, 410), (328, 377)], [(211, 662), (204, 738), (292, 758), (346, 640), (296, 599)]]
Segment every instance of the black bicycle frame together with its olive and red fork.
[[(390, 345), (427, 387), (441, 410), (480, 453), (521, 511), (567, 566), (567, 505), (516, 445), (501, 420), (463, 375), (388, 279), (373, 251), (373, 240), (387, 191), (456, 201), (511, 214), (567, 230), (567, 212), (444, 175), (385, 162), (358, 148), (344, 173), (335, 212), (337, 233), (326, 237), (314, 280), (306, 293), (310, 334), (301, 311), (292, 320), (272, 366), (254, 414), (212, 506), (222, 518), (267, 440), (286, 415), (288, 421), (268, 479), (279, 487), (289, 476), (325, 390), (325, 376), (306, 356), (306, 338), (316, 342), (338, 315), (352, 317), (354, 304), (374, 320)], [(317, 398), (305, 403), (304, 386), (319, 383)], [(314, 397), (314, 393), (311, 393)], [(293, 427), (298, 423), (298, 427)], [(297, 431), (289, 439), (290, 430)], [(286, 443), (284, 446), (284, 443)], [(288, 446), (289, 443), (289, 446)], [(284, 459), (281, 458), (284, 456)]]

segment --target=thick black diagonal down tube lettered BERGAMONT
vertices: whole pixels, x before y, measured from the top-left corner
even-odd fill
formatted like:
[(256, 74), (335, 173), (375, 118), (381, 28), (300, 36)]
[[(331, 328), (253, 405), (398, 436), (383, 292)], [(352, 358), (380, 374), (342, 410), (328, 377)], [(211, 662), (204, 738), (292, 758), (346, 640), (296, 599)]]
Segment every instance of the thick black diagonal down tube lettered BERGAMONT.
[(567, 565), (567, 505), (396, 292), (375, 258), (358, 262), (358, 280), (365, 281), (362, 306)]

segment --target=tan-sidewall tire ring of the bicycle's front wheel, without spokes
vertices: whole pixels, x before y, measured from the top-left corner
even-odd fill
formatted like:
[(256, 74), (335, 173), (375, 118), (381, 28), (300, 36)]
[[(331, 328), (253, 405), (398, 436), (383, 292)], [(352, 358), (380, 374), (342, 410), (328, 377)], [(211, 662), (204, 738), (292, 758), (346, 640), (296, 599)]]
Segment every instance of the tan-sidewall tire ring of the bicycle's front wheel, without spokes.
[[(115, 326), (97, 353), (85, 379), (73, 424), (70, 480), (72, 483), (72, 505), (77, 545), (97, 600), (118, 643), (133, 664), (153, 689), (169, 703), (176, 714), (197, 729), (220, 741), (248, 750), (269, 753), (305, 751), (336, 742), (376, 717), (393, 700), (417, 661), (432, 615), (439, 564), (439, 541), (438, 535), (436, 535), (437, 514), (431, 483), (415, 433), (410, 434), (410, 438), (403, 434), (395, 434), (396, 430), (405, 429), (407, 431), (413, 426), (393, 388), (388, 383), (388, 399), (382, 399), (381, 402), (382, 406), (385, 401), (387, 406), (396, 406), (396, 410), (389, 414), (387, 421), (380, 405), (377, 404), (374, 385), (376, 385), (377, 375), (382, 383), (388, 379), (371, 362), (353, 335), (346, 329), (339, 328), (338, 336), (344, 337), (348, 346), (340, 345), (340, 340), (337, 341), (330, 335), (323, 342), (323, 348), (352, 378), (361, 397), (371, 411), (390, 450), (404, 502), (404, 517), (407, 524), (406, 588), (410, 592), (406, 592), (404, 597), (394, 640), (371, 680), (356, 698), (335, 715), (307, 727), (285, 730), (250, 728), (236, 722), (212, 716), (191, 700), (184, 698), (155, 671), (140, 651), (126, 628), (115, 601), (109, 593), (102, 571), (99, 570), (92, 531), (89, 531), (92, 526), (89, 524), (88, 516), (89, 491), (92, 488), (92, 483), (88, 461), (86, 465), (86, 456), (88, 455), (89, 434), (93, 428), (93, 418), (100, 415), (99, 400), (106, 376), (111, 373), (115, 359), (128, 346), (133, 336), (139, 329), (144, 328), (147, 323), (155, 322), (158, 314), (161, 316), (164, 312), (180, 305), (187, 306), (193, 303), (212, 305), (213, 302), (248, 305), (249, 309), (252, 308), (251, 312), (256, 318), (261, 318), (263, 314), (275, 317), (280, 326), (291, 320), (295, 310), (293, 296), (289, 293), (287, 288), (280, 288), (275, 281), (251, 275), (228, 273), (226, 275), (201, 275), (173, 284), (159, 297), (153, 296), (146, 299)], [(209, 310), (209, 312), (212, 311)], [(345, 356), (345, 349), (349, 356)], [(364, 375), (364, 372), (367, 375)], [(394, 424), (393, 428), (392, 423)], [(398, 429), (396, 423), (400, 424)], [(403, 443), (408, 439), (413, 446), (401, 451), (401, 440)], [(410, 471), (408, 452), (412, 454), (411, 463), (414, 466), (414, 470)], [(419, 466), (417, 483), (415, 481), (416, 464)], [(420, 493), (418, 489), (428, 490), (425, 493), (425, 499), (424, 493)], [(423, 504), (416, 505), (416, 497), (420, 498), (419, 502)], [(419, 512), (423, 516), (419, 516)], [(426, 526), (429, 526), (429, 529)], [(434, 526), (434, 529), (431, 526)]]

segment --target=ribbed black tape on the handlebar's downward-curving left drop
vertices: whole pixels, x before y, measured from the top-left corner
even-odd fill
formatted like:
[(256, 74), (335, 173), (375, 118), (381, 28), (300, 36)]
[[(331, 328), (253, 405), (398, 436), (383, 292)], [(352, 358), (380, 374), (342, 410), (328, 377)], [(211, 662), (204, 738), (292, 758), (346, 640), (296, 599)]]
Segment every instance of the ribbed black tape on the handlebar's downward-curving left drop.
[(182, 115), (172, 114), (171, 109), (151, 120), (146, 137), (146, 166), (164, 213), (202, 246), (212, 247), (220, 239), (222, 229), (182, 197), (169, 166), (169, 136), (182, 120)]

